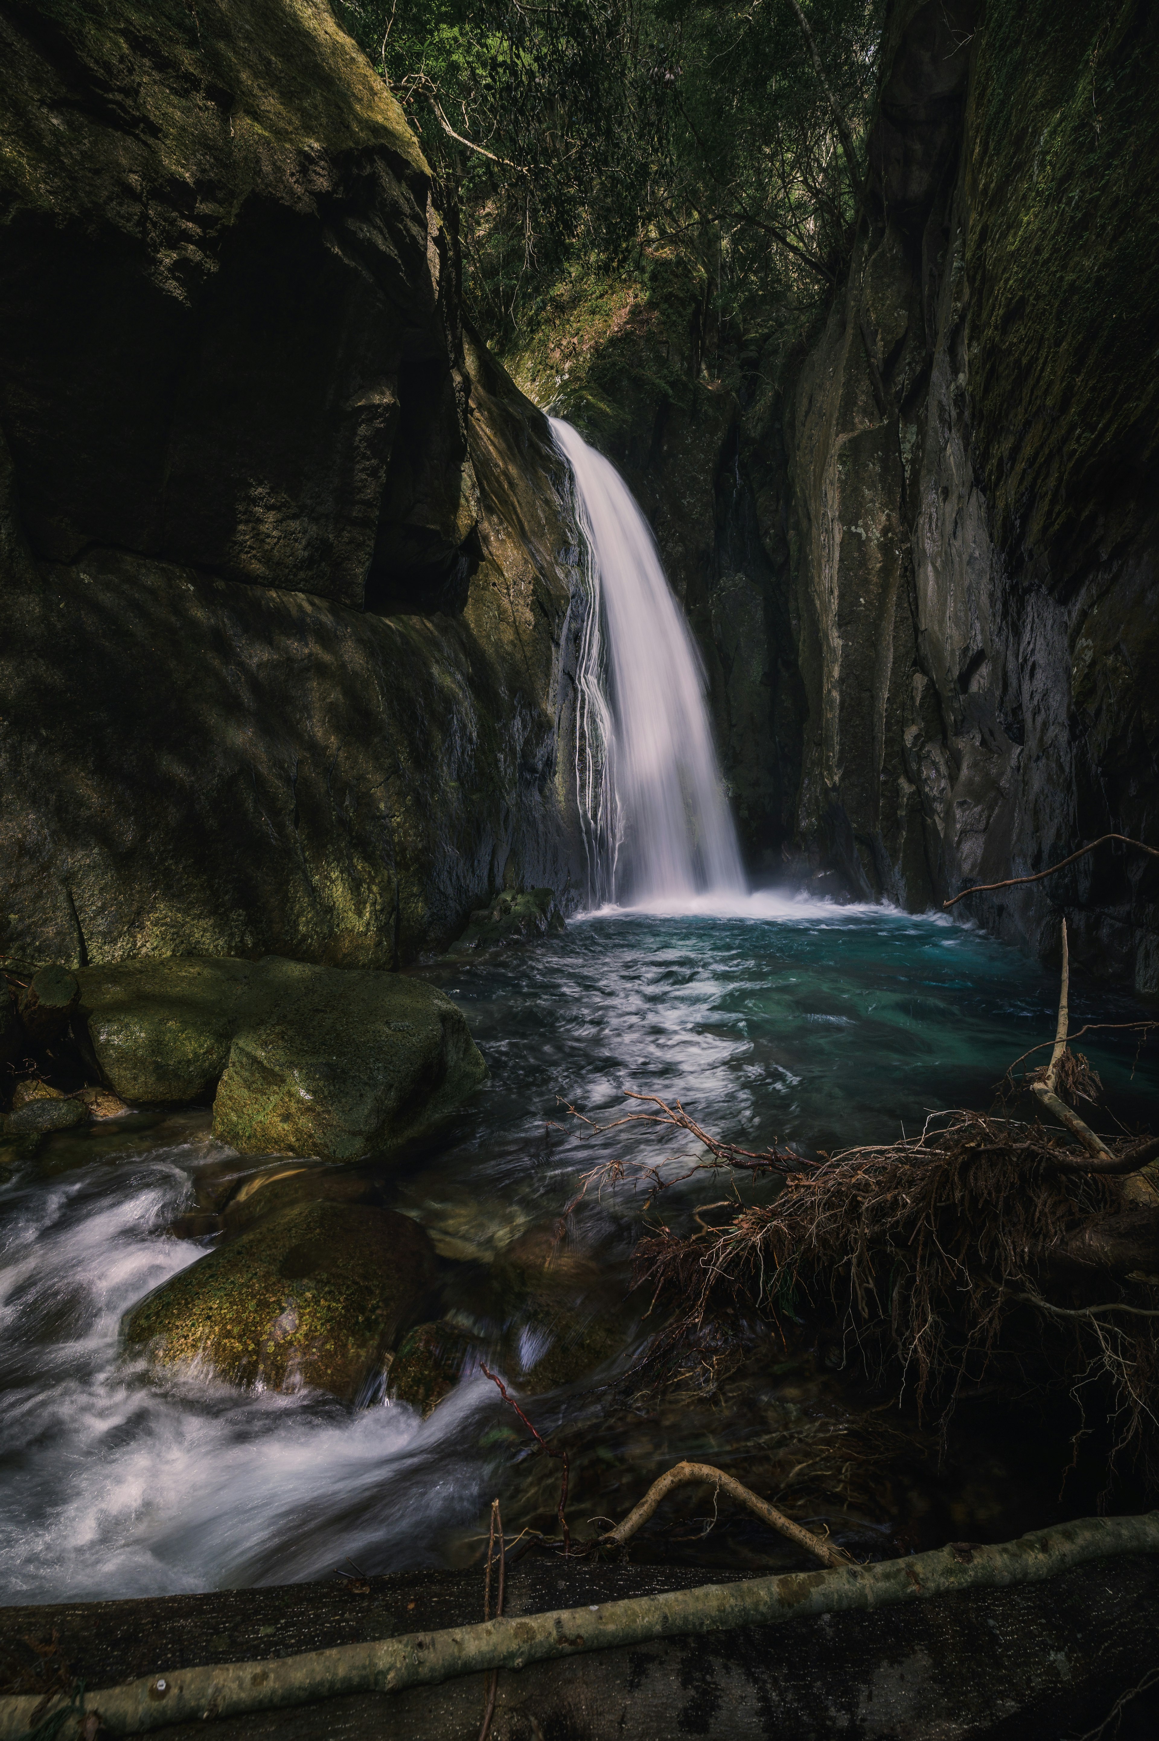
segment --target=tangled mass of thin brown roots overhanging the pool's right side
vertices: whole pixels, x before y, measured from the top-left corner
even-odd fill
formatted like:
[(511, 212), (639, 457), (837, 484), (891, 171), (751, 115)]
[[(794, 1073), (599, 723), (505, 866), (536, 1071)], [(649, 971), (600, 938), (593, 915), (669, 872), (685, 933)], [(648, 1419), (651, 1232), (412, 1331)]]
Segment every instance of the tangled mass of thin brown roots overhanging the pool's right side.
[(1122, 1191), (1114, 1173), (1074, 1170), (1061, 1132), (948, 1112), (920, 1137), (791, 1173), (776, 1201), (722, 1227), (661, 1227), (636, 1248), (638, 1280), (681, 1301), (683, 1334), (746, 1307), (786, 1339), (803, 1313), (830, 1318), (875, 1377), (899, 1365), (943, 1429), (995, 1353), (1047, 1351), (1079, 1396), (1105, 1382), (1115, 1450), (1145, 1450), (1159, 1426), (1159, 1212)]

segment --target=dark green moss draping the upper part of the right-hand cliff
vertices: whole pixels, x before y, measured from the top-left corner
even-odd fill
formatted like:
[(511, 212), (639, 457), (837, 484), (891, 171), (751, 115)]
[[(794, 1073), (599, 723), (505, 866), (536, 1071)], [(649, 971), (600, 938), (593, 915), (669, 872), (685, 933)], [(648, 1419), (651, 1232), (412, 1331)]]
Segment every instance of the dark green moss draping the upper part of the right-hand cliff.
[(971, 393), (1002, 545), (1065, 571), (1159, 442), (1159, 31), (992, 7), (973, 94)]

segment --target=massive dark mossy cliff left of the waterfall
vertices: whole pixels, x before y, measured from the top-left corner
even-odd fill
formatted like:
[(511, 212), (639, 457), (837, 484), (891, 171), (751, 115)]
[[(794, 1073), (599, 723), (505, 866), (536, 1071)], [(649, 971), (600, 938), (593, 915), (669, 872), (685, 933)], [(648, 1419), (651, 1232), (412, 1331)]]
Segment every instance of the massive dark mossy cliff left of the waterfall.
[(573, 571), (324, 0), (3, 0), (0, 949), (397, 965), (565, 893)]

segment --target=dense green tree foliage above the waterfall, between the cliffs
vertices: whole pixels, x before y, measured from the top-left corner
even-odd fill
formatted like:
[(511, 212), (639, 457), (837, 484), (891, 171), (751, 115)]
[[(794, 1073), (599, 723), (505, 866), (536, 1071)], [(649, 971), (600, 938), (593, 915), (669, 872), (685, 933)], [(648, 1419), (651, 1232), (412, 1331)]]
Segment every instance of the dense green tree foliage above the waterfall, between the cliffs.
[(669, 244), (725, 320), (851, 242), (884, 0), (342, 0), (458, 211), (495, 338), (575, 258)]

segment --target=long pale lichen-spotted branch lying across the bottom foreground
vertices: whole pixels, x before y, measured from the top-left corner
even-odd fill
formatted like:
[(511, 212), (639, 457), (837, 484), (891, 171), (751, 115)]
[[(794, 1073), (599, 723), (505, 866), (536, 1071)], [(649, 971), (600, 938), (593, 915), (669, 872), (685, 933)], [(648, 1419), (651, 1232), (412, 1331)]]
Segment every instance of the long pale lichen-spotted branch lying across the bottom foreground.
[[(765, 1626), (776, 1621), (878, 1609), (898, 1602), (1034, 1584), (1089, 1560), (1121, 1553), (1159, 1553), (1159, 1513), (1128, 1518), (1081, 1518), (992, 1548), (950, 1543), (932, 1553), (880, 1565), (826, 1572), (788, 1572), (737, 1584), (702, 1584), (563, 1609), (478, 1626), (411, 1633), (373, 1644), (338, 1645), (303, 1656), (258, 1663), (185, 1668), (87, 1696), (89, 1717), (119, 1736), (146, 1734), (167, 1724), (246, 1711), (277, 1710), (350, 1692), (401, 1692), (455, 1675), (528, 1663), (561, 1661), (587, 1650), (608, 1650), (655, 1638)], [(0, 1697), (0, 1741), (21, 1741), (42, 1699)], [(87, 1720), (59, 1701), (61, 1741), (75, 1741)]]

